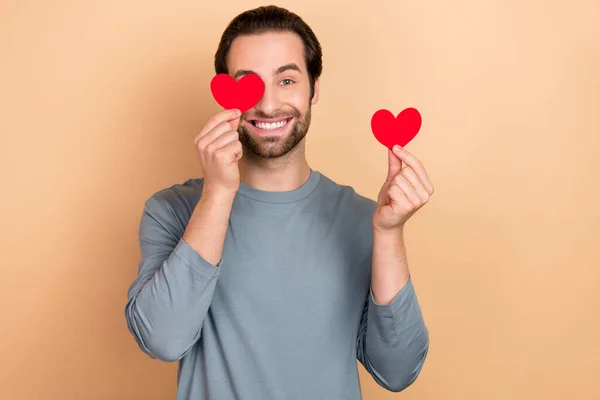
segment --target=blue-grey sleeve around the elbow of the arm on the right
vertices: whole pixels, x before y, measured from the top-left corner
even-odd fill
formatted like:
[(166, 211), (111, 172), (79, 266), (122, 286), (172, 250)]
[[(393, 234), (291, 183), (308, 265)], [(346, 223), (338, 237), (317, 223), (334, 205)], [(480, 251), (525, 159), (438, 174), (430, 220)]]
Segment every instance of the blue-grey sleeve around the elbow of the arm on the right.
[(357, 340), (357, 358), (383, 388), (400, 392), (418, 377), (429, 333), (412, 278), (390, 304), (377, 304), (370, 288)]

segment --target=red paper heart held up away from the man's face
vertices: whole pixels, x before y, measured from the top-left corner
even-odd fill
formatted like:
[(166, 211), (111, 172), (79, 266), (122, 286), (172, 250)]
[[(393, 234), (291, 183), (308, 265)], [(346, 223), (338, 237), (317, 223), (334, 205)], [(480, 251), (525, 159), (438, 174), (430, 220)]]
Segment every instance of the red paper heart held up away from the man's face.
[(371, 118), (373, 135), (388, 149), (404, 147), (421, 129), (421, 114), (415, 108), (406, 108), (398, 117), (388, 110), (379, 110)]

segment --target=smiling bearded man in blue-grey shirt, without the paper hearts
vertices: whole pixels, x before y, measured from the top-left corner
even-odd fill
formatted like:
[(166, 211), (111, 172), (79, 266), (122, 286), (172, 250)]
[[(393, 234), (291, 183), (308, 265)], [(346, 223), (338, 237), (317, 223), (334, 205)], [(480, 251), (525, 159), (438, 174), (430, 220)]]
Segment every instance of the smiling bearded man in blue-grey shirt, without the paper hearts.
[(421, 163), (388, 150), (377, 202), (309, 167), (321, 47), (285, 9), (236, 17), (215, 68), (257, 74), (264, 96), (203, 127), (202, 179), (147, 200), (132, 335), (150, 357), (179, 361), (179, 400), (360, 399), (357, 359), (403, 390), (429, 346), (403, 244), (433, 193)]

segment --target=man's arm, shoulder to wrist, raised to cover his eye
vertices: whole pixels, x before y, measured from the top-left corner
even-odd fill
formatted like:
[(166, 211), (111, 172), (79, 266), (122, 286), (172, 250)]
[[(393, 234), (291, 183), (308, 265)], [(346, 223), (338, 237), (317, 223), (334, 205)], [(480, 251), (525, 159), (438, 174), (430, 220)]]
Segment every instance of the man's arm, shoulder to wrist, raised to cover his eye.
[(234, 197), (205, 187), (183, 235), (167, 201), (155, 195), (146, 202), (139, 228), (142, 260), (125, 317), (152, 358), (179, 360), (200, 338)]

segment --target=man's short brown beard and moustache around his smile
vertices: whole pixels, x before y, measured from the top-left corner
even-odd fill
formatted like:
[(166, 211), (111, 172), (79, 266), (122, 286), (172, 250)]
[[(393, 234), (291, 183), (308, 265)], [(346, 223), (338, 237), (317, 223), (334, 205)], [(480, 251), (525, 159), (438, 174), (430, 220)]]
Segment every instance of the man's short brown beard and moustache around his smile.
[[(310, 126), (311, 119), (311, 107), (308, 105), (308, 111), (302, 115), (298, 109), (293, 108), (291, 111), (282, 111), (274, 115), (266, 115), (260, 111), (244, 120), (238, 127), (238, 133), (240, 136), (240, 142), (242, 145), (251, 151), (255, 156), (260, 158), (279, 158), (291, 150), (293, 150), (298, 143), (304, 139), (308, 128)], [(290, 133), (286, 136), (265, 136), (258, 137), (253, 136), (250, 129), (246, 126), (245, 122), (254, 118), (258, 119), (285, 119), (294, 117)]]

